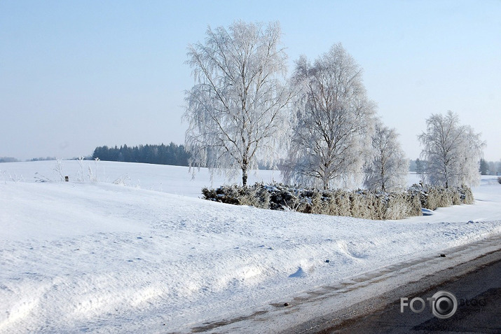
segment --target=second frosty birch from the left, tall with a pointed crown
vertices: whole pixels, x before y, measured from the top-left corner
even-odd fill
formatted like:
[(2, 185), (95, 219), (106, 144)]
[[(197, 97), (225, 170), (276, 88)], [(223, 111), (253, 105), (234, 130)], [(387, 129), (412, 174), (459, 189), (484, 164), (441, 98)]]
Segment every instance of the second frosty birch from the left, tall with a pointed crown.
[(359, 181), (371, 143), (375, 104), (366, 96), (362, 69), (341, 44), (313, 64), (296, 62), (298, 91), (286, 182), (330, 188)]

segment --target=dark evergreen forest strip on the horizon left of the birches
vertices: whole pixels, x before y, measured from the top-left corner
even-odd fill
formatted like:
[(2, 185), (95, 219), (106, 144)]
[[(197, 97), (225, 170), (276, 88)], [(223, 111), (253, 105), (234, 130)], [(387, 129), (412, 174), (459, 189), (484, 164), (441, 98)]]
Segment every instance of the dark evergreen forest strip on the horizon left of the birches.
[(92, 153), (92, 158), (104, 161), (143, 162), (157, 165), (188, 166), (190, 154), (183, 145), (139, 145), (120, 147), (99, 146)]

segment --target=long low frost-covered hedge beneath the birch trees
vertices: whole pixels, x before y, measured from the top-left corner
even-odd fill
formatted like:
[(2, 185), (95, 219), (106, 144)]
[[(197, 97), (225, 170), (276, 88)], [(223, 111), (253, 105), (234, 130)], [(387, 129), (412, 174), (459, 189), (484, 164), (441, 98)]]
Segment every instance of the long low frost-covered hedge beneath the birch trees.
[(422, 208), (434, 210), (437, 207), (471, 204), (474, 201), (472, 190), (467, 187), (446, 190), (417, 184), (403, 193), (322, 191), (282, 183), (255, 183), (247, 188), (237, 185), (203, 188), (202, 193), (205, 200), (228, 204), (382, 220), (420, 216)]

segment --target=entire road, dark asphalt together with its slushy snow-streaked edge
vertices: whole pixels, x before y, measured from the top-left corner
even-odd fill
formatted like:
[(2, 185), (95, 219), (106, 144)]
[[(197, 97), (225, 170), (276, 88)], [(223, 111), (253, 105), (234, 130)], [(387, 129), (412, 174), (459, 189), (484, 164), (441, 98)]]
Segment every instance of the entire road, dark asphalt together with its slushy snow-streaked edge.
[[(261, 305), (252, 314), (204, 323), (193, 333), (500, 333), (501, 236), (416, 254), (400, 263), (355, 277), (315, 286)], [(432, 297), (448, 291), (458, 307), (437, 319), (426, 303), (423, 312), (401, 311), (401, 298)], [(419, 302), (413, 305), (420, 308)]]

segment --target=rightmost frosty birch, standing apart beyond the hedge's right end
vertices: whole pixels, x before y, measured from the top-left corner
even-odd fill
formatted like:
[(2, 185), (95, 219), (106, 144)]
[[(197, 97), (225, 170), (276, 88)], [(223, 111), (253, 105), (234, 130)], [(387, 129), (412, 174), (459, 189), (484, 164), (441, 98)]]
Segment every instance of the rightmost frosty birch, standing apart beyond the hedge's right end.
[(423, 179), (445, 188), (474, 186), (480, 181), (479, 161), (485, 145), (469, 125), (460, 125), (456, 113), (432, 114), (427, 130), (418, 136), (427, 160)]

